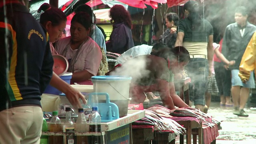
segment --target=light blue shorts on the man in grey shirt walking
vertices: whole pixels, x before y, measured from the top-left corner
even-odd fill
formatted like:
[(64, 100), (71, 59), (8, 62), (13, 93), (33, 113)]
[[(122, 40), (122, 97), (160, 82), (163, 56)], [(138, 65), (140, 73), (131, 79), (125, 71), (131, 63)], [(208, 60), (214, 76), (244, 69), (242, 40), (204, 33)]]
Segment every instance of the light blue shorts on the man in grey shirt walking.
[(254, 81), (254, 77), (253, 77), (253, 72), (251, 72), (250, 78), (249, 78), (248, 82), (246, 82), (246, 83), (242, 82), (241, 78), (238, 76), (238, 72), (239, 72), (239, 70), (231, 70), (232, 86), (242, 86), (244, 88), (255, 88), (255, 81)]

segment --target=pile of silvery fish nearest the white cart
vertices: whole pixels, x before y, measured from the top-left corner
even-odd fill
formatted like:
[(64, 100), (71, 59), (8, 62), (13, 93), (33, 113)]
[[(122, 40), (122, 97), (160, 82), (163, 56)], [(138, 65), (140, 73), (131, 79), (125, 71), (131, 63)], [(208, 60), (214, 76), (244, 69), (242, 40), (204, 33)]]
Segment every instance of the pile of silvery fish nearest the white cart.
[(177, 136), (186, 132), (186, 129), (183, 128), (176, 121), (168, 118), (164, 118), (157, 114), (156, 112), (152, 112), (150, 110), (145, 110), (145, 117), (134, 122), (134, 125), (147, 125), (154, 126), (156, 130), (171, 130)]

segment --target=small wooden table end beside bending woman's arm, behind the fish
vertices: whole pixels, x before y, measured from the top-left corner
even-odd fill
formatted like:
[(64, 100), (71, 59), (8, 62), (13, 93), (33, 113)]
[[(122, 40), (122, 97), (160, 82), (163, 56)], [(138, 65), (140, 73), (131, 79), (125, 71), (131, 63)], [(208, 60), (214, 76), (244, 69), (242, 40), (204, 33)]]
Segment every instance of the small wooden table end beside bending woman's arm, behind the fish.
[(188, 105), (189, 105), (189, 83), (191, 83), (191, 78), (189, 77), (185, 79), (174, 80), (174, 86), (175, 86), (175, 89), (179, 90), (180, 98)]

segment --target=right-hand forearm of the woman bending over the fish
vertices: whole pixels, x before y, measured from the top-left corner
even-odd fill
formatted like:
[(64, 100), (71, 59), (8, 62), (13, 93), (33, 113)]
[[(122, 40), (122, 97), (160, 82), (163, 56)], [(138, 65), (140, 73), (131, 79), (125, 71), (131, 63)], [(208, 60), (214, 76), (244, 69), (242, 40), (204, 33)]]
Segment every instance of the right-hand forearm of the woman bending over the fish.
[(180, 96), (178, 96), (176, 94), (175, 87), (174, 87), (174, 82), (169, 82), (169, 87), (170, 87), (170, 96), (171, 96), (175, 106), (178, 106), (180, 108), (190, 107), (180, 98)]

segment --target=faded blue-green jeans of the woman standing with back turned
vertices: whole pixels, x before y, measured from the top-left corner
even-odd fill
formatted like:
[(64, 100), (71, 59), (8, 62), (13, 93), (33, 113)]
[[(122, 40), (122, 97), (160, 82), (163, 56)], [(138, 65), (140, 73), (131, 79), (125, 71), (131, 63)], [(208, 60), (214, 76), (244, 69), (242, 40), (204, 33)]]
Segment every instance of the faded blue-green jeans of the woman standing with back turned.
[(194, 105), (205, 105), (205, 92), (207, 90), (208, 60), (205, 58), (192, 58), (186, 70), (191, 78), (189, 86), (190, 99), (194, 100)]

